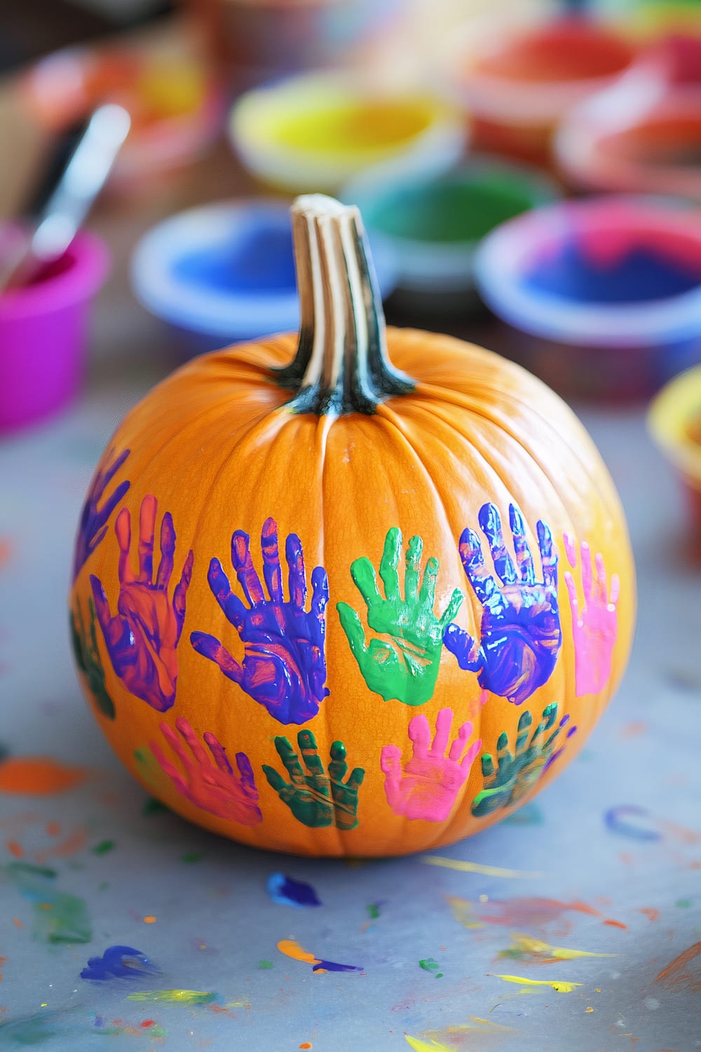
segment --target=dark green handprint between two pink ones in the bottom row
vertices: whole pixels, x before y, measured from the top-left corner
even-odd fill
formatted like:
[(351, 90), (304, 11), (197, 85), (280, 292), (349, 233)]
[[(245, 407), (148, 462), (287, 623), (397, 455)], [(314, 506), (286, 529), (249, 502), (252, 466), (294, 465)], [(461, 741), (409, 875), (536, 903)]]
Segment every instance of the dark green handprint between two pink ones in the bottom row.
[(264, 764), (263, 771), (269, 785), (303, 825), (312, 829), (321, 829), (324, 826), (335, 826), (336, 829), (345, 830), (355, 829), (357, 791), (365, 777), (363, 768), (353, 768), (350, 776), (344, 782), (348, 764), (346, 746), (343, 742), (334, 742), (331, 746), (328, 774), (318, 756), (316, 739), (310, 730), (300, 731), (297, 746), (309, 773), (305, 774), (302, 770), (300, 756), (288, 739), (276, 737), (275, 749), (290, 781), (286, 782), (274, 767)]

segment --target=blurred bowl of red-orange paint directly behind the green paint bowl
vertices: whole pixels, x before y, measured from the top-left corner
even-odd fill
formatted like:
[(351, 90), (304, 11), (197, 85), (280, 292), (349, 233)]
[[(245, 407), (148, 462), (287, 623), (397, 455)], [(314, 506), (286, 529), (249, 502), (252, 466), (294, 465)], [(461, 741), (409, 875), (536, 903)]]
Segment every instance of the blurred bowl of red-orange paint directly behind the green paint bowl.
[(460, 42), (449, 78), (472, 124), (475, 149), (547, 162), (566, 110), (601, 90), (633, 60), (614, 31), (562, 18), (500, 32), (478, 48)]

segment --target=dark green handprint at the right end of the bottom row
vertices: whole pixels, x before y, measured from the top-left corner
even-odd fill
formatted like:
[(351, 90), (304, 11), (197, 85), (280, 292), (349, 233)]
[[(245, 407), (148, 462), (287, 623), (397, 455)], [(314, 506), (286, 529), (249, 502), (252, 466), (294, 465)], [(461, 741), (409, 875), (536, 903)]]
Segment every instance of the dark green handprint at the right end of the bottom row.
[[(499, 734), (496, 743), (496, 769), (491, 753), (482, 753), (483, 788), (472, 802), (472, 813), (476, 817), (492, 814), (502, 807), (516, 804), (545, 773), (551, 764), (555, 763), (564, 748), (564, 742), (560, 740), (562, 744), (559, 749), (555, 746), (558, 744), (560, 732), (570, 722), (570, 716), (562, 716), (557, 726), (555, 726), (556, 720), (557, 702), (553, 702), (542, 710), (542, 719), (529, 741), (533, 716), (528, 711), (523, 712), (518, 721), (514, 753), (512, 754), (509, 748), (509, 735), (506, 731)], [(544, 737), (554, 726), (552, 734)], [(565, 739), (572, 737), (576, 730), (576, 727), (570, 727)]]

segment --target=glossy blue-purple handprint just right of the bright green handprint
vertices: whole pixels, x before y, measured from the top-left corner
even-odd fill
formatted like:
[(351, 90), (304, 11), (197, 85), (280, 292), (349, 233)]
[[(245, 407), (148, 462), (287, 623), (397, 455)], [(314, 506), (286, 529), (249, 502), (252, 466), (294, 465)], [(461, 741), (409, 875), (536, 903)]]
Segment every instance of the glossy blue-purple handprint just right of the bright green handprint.
[(513, 504), (509, 505), (509, 522), (518, 572), (507, 550), (495, 505), (484, 504), (479, 510), (479, 525), (500, 585), (487, 572), (475, 531), (469, 528), (462, 531), (460, 559), (482, 605), (481, 635), (479, 641), (473, 640), (465, 629), (451, 624), (444, 639), (460, 668), (479, 673), (480, 687), (521, 705), (551, 677), (562, 642), (557, 606), (557, 549), (550, 529), (538, 521), (542, 581), (536, 581), (525, 523)]

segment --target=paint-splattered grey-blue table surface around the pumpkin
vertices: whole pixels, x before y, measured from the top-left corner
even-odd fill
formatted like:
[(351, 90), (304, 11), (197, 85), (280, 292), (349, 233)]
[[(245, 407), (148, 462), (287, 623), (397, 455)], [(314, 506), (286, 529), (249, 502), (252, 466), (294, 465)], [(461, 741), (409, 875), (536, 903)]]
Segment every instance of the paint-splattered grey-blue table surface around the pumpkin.
[[(389, 1052), (409, 1048), (407, 1035), (429, 1052), (701, 1047), (699, 567), (643, 407), (575, 406), (636, 553), (627, 674), (584, 751), (535, 802), (439, 852), (469, 865), (239, 847), (149, 803), (100, 735), (68, 645), (75, 526), (110, 432), (177, 364), (131, 298), (129, 252), (160, 216), (249, 188), (220, 145), (131, 200), (128, 220), (123, 201), (105, 203), (94, 225), (115, 267), (85, 397), (0, 443), (0, 736), (11, 756), (77, 771), (60, 793), (22, 795), (3, 792), (0, 766), (0, 1048), (102, 1049), (106, 1035), (222, 1052)], [(461, 335), (499, 348), (493, 323), (463, 322)], [(322, 905), (274, 902), (275, 872), (312, 885)], [(277, 950), (285, 938), (360, 970), (313, 972)], [(81, 978), (111, 945), (152, 971)], [(577, 985), (547, 985), (562, 982)]]

